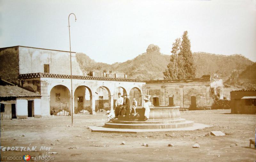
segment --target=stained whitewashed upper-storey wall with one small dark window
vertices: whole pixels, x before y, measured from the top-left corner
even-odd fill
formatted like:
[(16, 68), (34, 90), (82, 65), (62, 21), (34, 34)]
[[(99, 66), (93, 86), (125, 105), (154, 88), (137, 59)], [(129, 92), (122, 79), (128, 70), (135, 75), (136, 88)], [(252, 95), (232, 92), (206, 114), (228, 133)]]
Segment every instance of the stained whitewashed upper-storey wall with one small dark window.
[[(83, 75), (76, 53), (72, 56), (72, 74)], [(20, 74), (43, 73), (44, 64), (49, 64), (51, 74), (70, 75), (70, 53), (64, 51), (19, 47)]]

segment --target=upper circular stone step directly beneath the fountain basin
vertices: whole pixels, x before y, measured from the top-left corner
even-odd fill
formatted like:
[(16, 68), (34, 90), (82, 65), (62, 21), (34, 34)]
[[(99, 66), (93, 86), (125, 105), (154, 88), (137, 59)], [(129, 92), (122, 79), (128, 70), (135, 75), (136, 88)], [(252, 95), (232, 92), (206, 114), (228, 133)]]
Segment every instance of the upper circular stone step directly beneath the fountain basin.
[[(163, 121), (119, 121), (119, 120), (112, 120), (112, 123), (118, 124), (169, 124), (169, 123), (180, 123), (185, 122), (186, 119), (179, 118), (176, 120), (163, 120)], [(111, 122), (110, 122), (111, 123)]]

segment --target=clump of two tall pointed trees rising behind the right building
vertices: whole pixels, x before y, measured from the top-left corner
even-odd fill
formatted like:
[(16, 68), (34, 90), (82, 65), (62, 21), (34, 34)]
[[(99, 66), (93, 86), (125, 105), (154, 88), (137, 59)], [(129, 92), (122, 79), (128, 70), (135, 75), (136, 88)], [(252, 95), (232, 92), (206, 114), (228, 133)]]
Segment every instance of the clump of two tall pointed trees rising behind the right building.
[(182, 41), (177, 38), (172, 44), (170, 63), (163, 72), (164, 79), (183, 79), (196, 76), (196, 66), (190, 50), (190, 41), (188, 32), (182, 35)]

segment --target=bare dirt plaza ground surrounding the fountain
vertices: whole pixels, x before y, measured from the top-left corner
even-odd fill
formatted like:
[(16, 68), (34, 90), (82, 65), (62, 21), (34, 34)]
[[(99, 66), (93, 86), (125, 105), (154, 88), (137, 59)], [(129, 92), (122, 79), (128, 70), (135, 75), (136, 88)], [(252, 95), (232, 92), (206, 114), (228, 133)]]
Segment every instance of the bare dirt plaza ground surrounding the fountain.
[[(255, 115), (219, 109), (181, 112), (181, 118), (213, 127), (145, 133), (91, 132), (88, 126), (106, 122), (107, 115), (103, 113), (76, 114), (74, 127), (69, 127), (70, 116), (1, 121), (1, 161), (15, 161), (13, 158), (26, 154), (36, 161), (256, 160), (256, 150), (249, 148), (249, 139), (255, 138)], [(226, 135), (212, 136), (211, 131)], [(125, 144), (121, 145), (123, 141)], [(200, 147), (192, 148), (194, 144)]]

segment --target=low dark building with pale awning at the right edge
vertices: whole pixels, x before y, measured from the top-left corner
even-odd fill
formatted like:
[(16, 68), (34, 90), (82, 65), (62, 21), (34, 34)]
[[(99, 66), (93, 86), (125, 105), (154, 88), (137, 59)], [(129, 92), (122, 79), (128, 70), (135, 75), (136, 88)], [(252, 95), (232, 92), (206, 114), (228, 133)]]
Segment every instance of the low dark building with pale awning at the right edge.
[(232, 114), (255, 114), (256, 91), (231, 91), (230, 106)]

